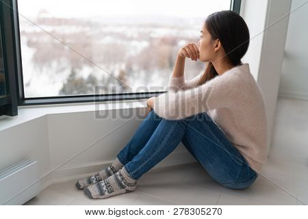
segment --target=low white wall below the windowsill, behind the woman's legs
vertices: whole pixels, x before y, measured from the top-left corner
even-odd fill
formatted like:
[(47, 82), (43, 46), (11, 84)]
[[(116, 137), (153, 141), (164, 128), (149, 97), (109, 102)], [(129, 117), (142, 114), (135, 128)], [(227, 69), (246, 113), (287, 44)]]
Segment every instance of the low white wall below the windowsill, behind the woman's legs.
[[(36, 160), (40, 177), (52, 172), (42, 180), (42, 189), (52, 183), (98, 172), (110, 165), (129, 142), (142, 123), (145, 110), (146, 107), (105, 110), (107, 118), (103, 119), (96, 118), (94, 111), (46, 114), (3, 129), (0, 131), (0, 169), (21, 159)], [(131, 116), (123, 119), (120, 115)], [(153, 169), (192, 162), (196, 160), (180, 143)]]

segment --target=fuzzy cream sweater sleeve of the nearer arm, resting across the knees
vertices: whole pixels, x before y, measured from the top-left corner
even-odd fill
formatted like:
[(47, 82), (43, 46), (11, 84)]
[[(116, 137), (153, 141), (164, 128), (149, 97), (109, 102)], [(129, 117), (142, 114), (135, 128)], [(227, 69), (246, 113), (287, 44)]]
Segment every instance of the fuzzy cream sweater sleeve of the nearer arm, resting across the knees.
[[(179, 88), (183, 88), (183, 83)], [(207, 110), (233, 107), (243, 92), (240, 77), (225, 73), (196, 88), (168, 90), (155, 96), (153, 110), (162, 118), (178, 120)]]

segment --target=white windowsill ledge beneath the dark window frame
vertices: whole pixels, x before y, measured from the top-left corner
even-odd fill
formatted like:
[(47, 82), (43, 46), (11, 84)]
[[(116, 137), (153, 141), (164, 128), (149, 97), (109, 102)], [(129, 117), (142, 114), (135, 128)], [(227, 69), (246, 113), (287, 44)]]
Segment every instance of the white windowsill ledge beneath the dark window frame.
[(146, 107), (147, 99), (129, 101), (106, 101), (101, 103), (65, 103), (53, 105), (18, 106), (18, 116), (0, 116), (0, 131), (26, 123), (47, 114), (64, 114), (70, 112), (91, 112), (99, 110), (119, 110)]

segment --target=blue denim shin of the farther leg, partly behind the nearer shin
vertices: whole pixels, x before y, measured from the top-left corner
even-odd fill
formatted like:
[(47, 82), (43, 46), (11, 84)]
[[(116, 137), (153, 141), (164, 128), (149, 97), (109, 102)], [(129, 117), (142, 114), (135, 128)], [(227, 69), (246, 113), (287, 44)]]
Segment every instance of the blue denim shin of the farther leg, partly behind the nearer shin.
[(149, 141), (161, 120), (162, 118), (155, 114), (154, 110), (149, 112), (134, 133), (131, 140), (129, 140), (126, 146), (117, 155), (123, 165), (131, 161), (131, 159), (133, 159), (133, 157), (135, 157), (146, 145), (146, 142)]

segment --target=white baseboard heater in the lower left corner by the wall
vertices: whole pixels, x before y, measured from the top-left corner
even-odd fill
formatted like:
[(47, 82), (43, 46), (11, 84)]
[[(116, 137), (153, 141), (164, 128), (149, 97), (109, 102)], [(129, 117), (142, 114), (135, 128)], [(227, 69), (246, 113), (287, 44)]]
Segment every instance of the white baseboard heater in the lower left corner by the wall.
[(40, 192), (38, 179), (38, 162), (29, 159), (0, 170), (0, 204), (23, 205), (34, 198)]

